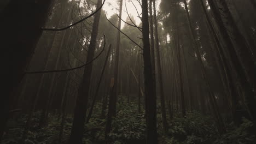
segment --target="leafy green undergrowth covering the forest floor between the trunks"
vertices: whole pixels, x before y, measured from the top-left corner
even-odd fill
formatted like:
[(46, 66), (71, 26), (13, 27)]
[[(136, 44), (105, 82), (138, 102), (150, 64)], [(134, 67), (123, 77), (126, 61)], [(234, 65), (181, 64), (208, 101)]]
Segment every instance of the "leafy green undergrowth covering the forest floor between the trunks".
[[(112, 124), (112, 131), (109, 134), (111, 143), (145, 143), (146, 123), (144, 111), (138, 112), (137, 103), (127, 103), (126, 100), (118, 104), (117, 116)], [(175, 110), (174, 110), (175, 112)], [(176, 111), (176, 113), (178, 113)], [(95, 105), (94, 114), (90, 122), (84, 127), (84, 143), (105, 143), (104, 127), (106, 119), (100, 118), (101, 104)], [(61, 116), (57, 113), (49, 113), (48, 126), (38, 128), (40, 112), (35, 112), (33, 116), (33, 127), (28, 132), (26, 143), (59, 143), (59, 133), (61, 129)], [(8, 131), (4, 136), (2, 143), (19, 143), (22, 131), (26, 123), (27, 115), (19, 115), (10, 119)], [(213, 118), (208, 115), (202, 115), (199, 112), (188, 112), (185, 118), (175, 114), (168, 119), (168, 134), (163, 135), (161, 124), (160, 104), (158, 104), (158, 140), (159, 144), (185, 144), (185, 143), (205, 143), (205, 144), (235, 144), (256, 143), (255, 129), (253, 123), (248, 119), (243, 119), (240, 127), (232, 123), (226, 123), (227, 132), (220, 136), (217, 132)], [(72, 128), (72, 115), (67, 115), (63, 129), (62, 142), (66, 143)], [(254, 132), (253, 132), (254, 131)], [(253, 135), (254, 134), (254, 135)]]

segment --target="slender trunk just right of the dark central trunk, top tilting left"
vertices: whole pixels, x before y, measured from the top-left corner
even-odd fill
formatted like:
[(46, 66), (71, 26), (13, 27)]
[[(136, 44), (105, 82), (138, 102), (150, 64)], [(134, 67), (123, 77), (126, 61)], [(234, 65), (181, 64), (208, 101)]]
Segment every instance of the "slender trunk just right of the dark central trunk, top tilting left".
[(155, 34), (155, 50), (156, 50), (156, 62), (158, 63), (158, 79), (160, 85), (160, 98), (161, 98), (161, 114), (162, 114), (162, 127), (164, 128), (165, 134), (168, 132), (168, 124), (166, 119), (166, 109), (165, 109), (165, 96), (164, 96), (164, 86), (162, 84), (162, 68), (160, 62), (160, 50), (159, 50), (159, 39), (158, 39), (158, 21), (156, 20), (156, 6), (155, 0), (153, 1), (154, 7), (154, 34)]

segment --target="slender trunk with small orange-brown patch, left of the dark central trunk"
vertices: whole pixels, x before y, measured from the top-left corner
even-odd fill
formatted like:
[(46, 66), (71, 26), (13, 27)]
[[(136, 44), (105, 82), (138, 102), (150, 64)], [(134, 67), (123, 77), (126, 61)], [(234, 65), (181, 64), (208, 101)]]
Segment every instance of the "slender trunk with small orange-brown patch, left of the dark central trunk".
[[(123, 9), (123, 0), (120, 0), (119, 6), (119, 17), (118, 20), (118, 28), (121, 29), (121, 17), (122, 17), (122, 9)], [(115, 66), (114, 66), (114, 85), (110, 90), (109, 95), (109, 105), (108, 105), (108, 116), (107, 116), (107, 125), (105, 131), (105, 137), (108, 139), (108, 134), (111, 130), (112, 117), (115, 116), (115, 112), (117, 109), (117, 87), (118, 87), (118, 68), (119, 68), (119, 48), (120, 48), (120, 31), (117, 33), (117, 45), (115, 47)]]

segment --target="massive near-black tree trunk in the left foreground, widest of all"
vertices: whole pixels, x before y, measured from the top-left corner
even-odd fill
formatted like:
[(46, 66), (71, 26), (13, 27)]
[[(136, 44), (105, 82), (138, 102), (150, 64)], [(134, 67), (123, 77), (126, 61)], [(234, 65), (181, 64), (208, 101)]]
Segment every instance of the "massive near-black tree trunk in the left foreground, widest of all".
[[(3, 86), (0, 98), (0, 141), (8, 120), (9, 107), (13, 103), (14, 93), (24, 77), (24, 70), (30, 62), (38, 39), (40, 29), (48, 17), (51, 0), (18, 1), (11, 0), (0, 13)], [(33, 12), (32, 12), (33, 11)], [(15, 17), (15, 18), (14, 18)], [(19, 22), (19, 25), (17, 25)]]

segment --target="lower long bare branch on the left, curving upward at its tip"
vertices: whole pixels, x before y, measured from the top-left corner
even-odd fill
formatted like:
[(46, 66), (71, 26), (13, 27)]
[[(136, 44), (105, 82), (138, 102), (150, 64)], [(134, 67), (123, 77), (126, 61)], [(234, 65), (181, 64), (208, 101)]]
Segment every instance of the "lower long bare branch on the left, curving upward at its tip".
[(103, 49), (101, 50), (101, 52), (98, 53), (98, 55), (94, 59), (92, 59), (90, 62), (86, 62), (85, 64), (80, 65), (79, 67), (70, 68), (70, 69), (61, 69), (61, 70), (25, 71), (25, 74), (56, 73), (56, 72), (71, 71), (71, 70), (75, 70), (75, 69), (80, 69), (80, 68), (86, 67), (89, 64), (91, 64), (92, 62), (94, 62), (95, 59), (100, 57), (101, 53), (105, 49), (105, 45), (106, 45), (106, 37), (105, 37), (105, 34), (104, 34), (104, 46), (103, 46)]

